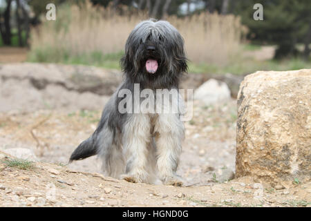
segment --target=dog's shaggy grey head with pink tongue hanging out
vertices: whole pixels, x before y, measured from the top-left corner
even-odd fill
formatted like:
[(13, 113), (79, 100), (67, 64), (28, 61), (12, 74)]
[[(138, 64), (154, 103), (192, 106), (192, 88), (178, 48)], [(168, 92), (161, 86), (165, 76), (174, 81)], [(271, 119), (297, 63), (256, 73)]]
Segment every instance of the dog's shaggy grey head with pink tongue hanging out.
[(165, 84), (187, 71), (184, 40), (167, 21), (142, 21), (126, 41), (121, 65), (137, 83), (162, 81), (159, 86), (167, 87)]

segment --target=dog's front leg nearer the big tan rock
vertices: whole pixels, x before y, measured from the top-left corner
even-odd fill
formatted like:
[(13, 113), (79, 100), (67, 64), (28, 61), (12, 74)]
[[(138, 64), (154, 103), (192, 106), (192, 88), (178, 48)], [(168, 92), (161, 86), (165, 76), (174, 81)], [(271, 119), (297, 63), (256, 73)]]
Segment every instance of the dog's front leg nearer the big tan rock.
[(182, 186), (182, 179), (176, 175), (184, 125), (177, 114), (160, 114), (155, 125), (156, 146), (158, 153), (158, 175), (164, 184)]

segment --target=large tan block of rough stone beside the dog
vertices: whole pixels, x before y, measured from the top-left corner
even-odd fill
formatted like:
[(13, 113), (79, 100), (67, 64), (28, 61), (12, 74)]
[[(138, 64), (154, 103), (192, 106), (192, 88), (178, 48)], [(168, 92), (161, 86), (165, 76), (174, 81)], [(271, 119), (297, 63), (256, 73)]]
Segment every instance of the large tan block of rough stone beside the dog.
[(259, 71), (238, 93), (236, 176), (310, 179), (311, 69)]

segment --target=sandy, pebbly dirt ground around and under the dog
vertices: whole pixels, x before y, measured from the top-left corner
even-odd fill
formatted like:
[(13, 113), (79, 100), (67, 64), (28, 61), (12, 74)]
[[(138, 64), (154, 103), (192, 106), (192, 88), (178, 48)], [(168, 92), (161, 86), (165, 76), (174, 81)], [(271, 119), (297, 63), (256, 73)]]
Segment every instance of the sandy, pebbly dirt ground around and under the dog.
[[(20, 91), (31, 88), (21, 90), (30, 84), (12, 80), (0, 79), (1, 87), (6, 88), (0, 90), (0, 95), (6, 102), (14, 103), (18, 97), (10, 86), (18, 85)], [(37, 97), (19, 103), (19, 108), (0, 111), (0, 150), (29, 148), (39, 159), (32, 166), (19, 169), (8, 164), (9, 158), (0, 153), (0, 206), (311, 205), (310, 183), (280, 187), (252, 177), (230, 180), (235, 171), (235, 99), (218, 106), (194, 102), (194, 116), (185, 122), (186, 138), (178, 168), (185, 185), (176, 187), (103, 177), (96, 157), (68, 164), (75, 147), (95, 130), (109, 96), (89, 93), (86, 99), (84, 93), (75, 93), (74, 101), (87, 100), (85, 105), (91, 107), (88, 109), (75, 106), (75, 102), (63, 104), (66, 102), (57, 93), (57, 86), (49, 90), (50, 96), (54, 90), (61, 104), (39, 106), (34, 111), (28, 106), (44, 102)], [(34, 91), (44, 93), (44, 90)], [(31, 97), (27, 93), (19, 95), (18, 100)]]

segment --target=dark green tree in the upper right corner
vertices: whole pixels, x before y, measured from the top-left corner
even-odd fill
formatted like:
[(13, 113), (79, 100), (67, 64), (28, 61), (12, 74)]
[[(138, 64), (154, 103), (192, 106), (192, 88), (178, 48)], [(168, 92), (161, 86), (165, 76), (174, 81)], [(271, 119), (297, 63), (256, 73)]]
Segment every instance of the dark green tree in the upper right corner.
[[(253, 6), (263, 5), (263, 21), (255, 21)], [(281, 59), (298, 55), (297, 43), (310, 40), (308, 30), (311, 18), (309, 0), (238, 0), (235, 14), (241, 15), (242, 22), (249, 28), (249, 39), (276, 44), (275, 58)], [(308, 47), (305, 54), (309, 54)]]

